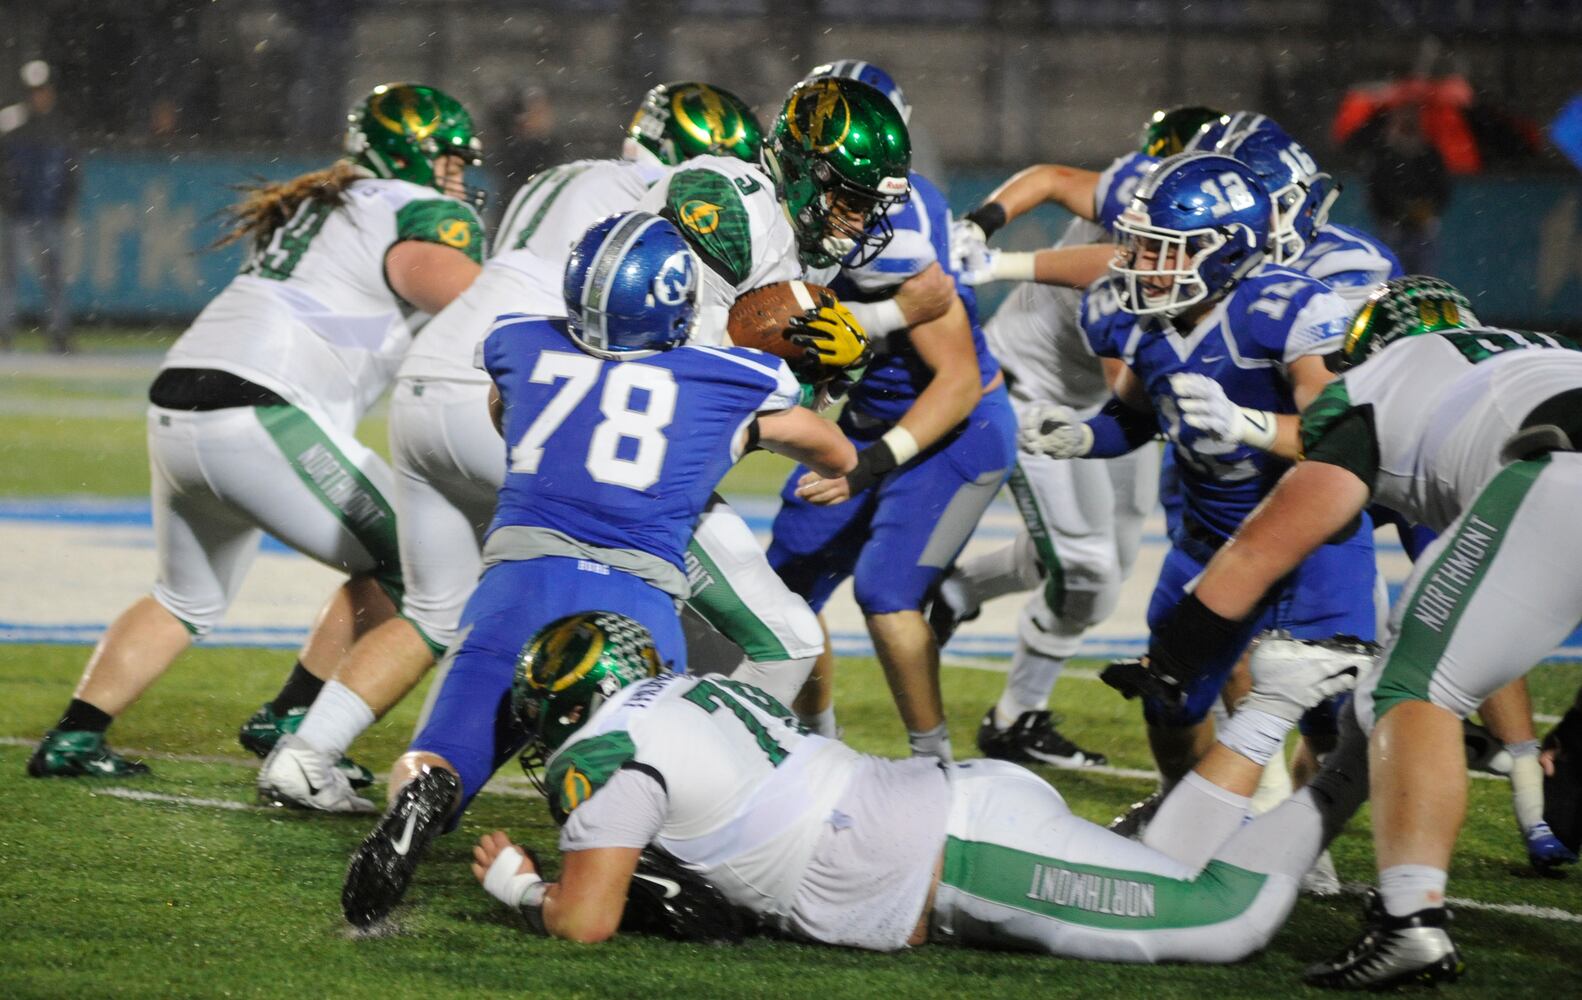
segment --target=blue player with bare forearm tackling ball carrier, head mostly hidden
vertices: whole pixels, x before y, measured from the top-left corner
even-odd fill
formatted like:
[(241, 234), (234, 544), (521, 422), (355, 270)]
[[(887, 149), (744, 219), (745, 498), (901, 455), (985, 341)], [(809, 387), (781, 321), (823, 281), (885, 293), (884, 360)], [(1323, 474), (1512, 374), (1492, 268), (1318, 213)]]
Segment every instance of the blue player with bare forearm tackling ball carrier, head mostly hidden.
[[(856, 76), (905, 116), (900, 87), (872, 63), (845, 60), (816, 78)], [(935, 264), (949, 264), (944, 196), (911, 172), (905, 203), (883, 220), (892, 237), (872, 255), (850, 255), (831, 280), (843, 301), (883, 302)], [(883, 324), (892, 326), (892, 324)], [(967, 543), (1011, 472), (1016, 418), (1000, 369), (978, 326), (976, 299), (959, 288), (944, 315), (914, 326), (870, 329), (875, 356), (851, 389), (840, 427), (861, 449), (856, 470), (829, 478), (797, 468), (782, 492), (769, 562), (786, 584), (823, 608), (854, 578), (856, 601), (913, 753), (949, 759), (940, 696), (940, 650), (922, 616), (930, 589)], [(851, 503), (827, 506), (851, 498)], [(804, 714), (823, 715), (829, 660), (805, 693)], [(808, 699), (813, 699), (812, 704)]]

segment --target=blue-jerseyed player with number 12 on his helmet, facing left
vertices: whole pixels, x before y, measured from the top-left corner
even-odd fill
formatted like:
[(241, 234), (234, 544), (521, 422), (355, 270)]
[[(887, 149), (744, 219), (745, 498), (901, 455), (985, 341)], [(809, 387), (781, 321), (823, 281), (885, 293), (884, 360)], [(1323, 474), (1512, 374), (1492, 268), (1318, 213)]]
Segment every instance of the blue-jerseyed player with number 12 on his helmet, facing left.
[[(1262, 182), (1240, 161), (1201, 152), (1161, 160), (1117, 220), (1123, 244), (1114, 271), (1133, 318), (1111, 329), (1111, 353), (1126, 359), (1115, 399), (1088, 421), (1054, 403), (1022, 421), (1022, 446), (1054, 457), (1107, 457), (1156, 432), (1169, 438), (1183, 506), (1149, 604), (1150, 630), (1297, 456), (1296, 415), (1332, 378), (1324, 356), (1348, 326), (1346, 302), (1321, 282), (1266, 263), (1272, 217)], [(1201, 380), (1226, 394), (1213, 430), (1182, 415), (1183, 396)], [(1259, 628), (1372, 638), (1372, 528), (1364, 522), (1283, 582)], [(1253, 634), (1240, 636), (1190, 690), (1145, 696), (1166, 786), (1205, 745), (1205, 715)]]

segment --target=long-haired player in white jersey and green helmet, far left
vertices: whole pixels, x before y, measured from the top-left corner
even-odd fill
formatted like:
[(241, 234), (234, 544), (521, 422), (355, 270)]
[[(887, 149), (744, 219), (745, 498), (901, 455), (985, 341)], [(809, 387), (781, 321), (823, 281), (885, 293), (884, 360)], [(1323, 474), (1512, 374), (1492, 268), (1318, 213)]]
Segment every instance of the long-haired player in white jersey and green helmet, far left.
[(400, 609), (391, 473), (354, 430), (413, 332), (478, 274), (484, 236), (462, 177), (479, 149), (449, 95), (381, 85), (351, 111), (343, 161), (237, 206), (226, 242), (244, 242), (247, 263), (149, 392), (153, 595), (109, 627), (28, 774), (147, 771), (108, 750), (104, 729), (225, 617), (264, 532), (351, 579), (285, 688), (242, 728), (255, 753), (294, 729), (353, 641)]

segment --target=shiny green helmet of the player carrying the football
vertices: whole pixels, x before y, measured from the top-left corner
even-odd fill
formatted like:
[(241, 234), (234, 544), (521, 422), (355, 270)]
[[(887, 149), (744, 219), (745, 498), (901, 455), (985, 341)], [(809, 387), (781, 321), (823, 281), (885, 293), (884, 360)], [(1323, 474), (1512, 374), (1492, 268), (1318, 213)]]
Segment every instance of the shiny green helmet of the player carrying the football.
[(848, 263), (861, 264), (891, 241), (889, 210), (911, 191), (911, 138), (900, 111), (873, 87), (827, 76), (802, 81), (764, 142), (764, 169), (804, 264), (831, 267), (854, 250)]

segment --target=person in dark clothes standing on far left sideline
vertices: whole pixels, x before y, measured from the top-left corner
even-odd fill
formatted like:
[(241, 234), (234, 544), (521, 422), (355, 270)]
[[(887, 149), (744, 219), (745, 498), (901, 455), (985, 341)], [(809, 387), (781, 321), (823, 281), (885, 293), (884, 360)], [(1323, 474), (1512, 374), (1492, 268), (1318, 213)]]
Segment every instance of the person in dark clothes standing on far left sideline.
[(63, 256), (78, 161), (49, 65), (27, 63), (22, 82), (27, 100), (0, 111), (0, 347), (11, 347), (17, 275), (28, 261), (44, 291), (49, 347), (63, 354), (71, 335)]

